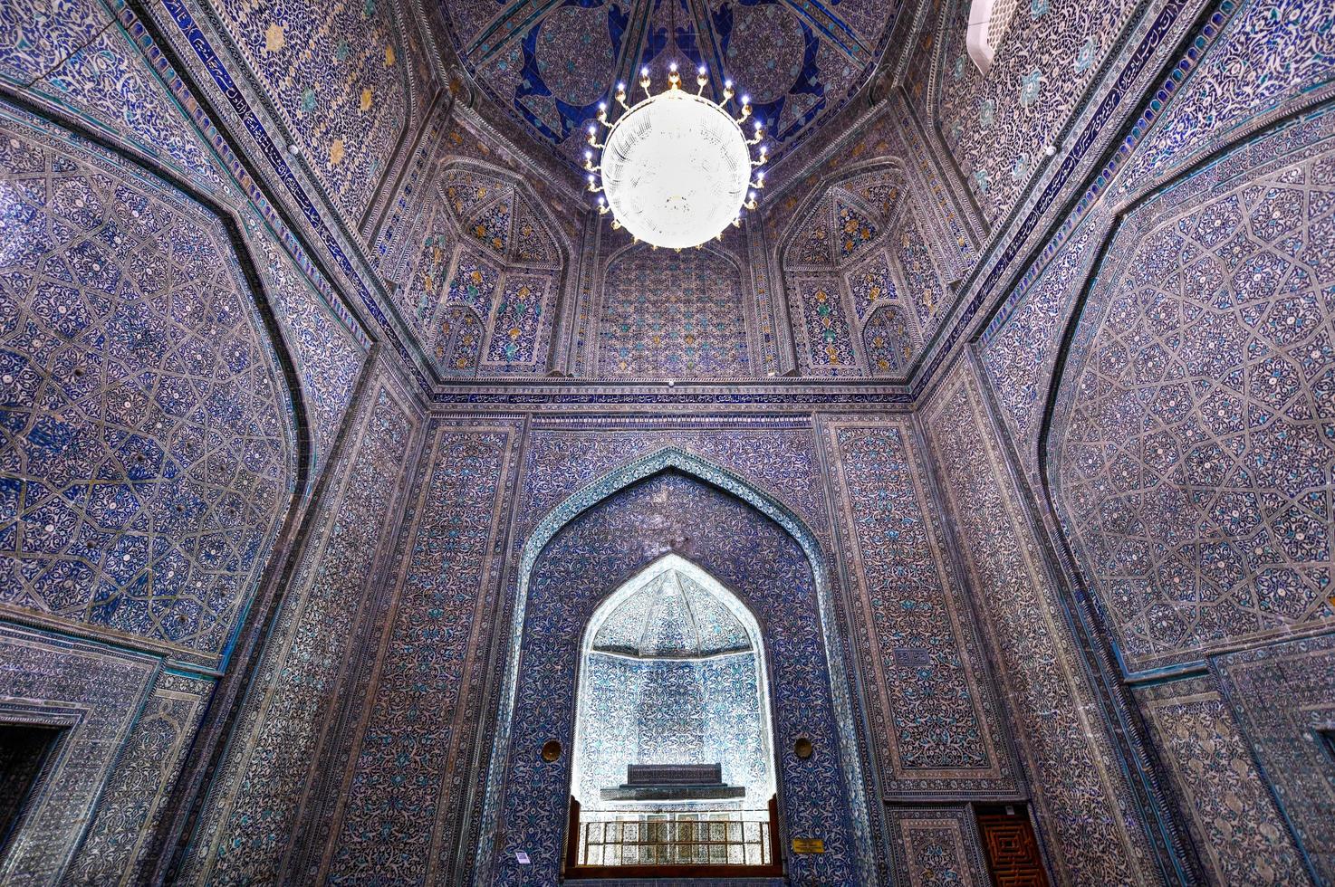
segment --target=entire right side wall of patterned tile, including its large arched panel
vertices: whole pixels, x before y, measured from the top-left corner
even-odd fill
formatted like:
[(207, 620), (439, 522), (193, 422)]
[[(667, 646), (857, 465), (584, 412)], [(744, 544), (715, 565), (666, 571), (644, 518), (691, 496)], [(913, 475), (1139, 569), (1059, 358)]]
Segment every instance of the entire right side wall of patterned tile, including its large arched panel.
[[(1065, 580), (1089, 590), (1163, 762), (1164, 803), (1212, 883), (1330, 868), (1312, 807), (1332, 796), (1328, 764), (1302, 756), (1319, 746), (1320, 708), (1312, 684), (1290, 688), (1268, 664), (1290, 643), (1319, 650), (1335, 615), (1332, 57), (1308, 15), (1226, 4), (1197, 25), (979, 343), (1013, 464), (1069, 554)], [(1109, 431), (1101, 446), (1093, 427)], [(1235, 659), (1272, 683), (1231, 684)]]

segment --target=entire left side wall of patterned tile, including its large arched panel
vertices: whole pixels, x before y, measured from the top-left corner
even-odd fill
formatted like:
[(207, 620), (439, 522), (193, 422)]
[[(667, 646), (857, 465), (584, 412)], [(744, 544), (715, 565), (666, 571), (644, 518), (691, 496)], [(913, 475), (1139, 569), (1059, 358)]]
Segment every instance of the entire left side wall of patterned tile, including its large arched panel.
[(144, 883), (370, 343), (135, 9), (0, 17), (0, 692), (64, 728), (3, 878)]

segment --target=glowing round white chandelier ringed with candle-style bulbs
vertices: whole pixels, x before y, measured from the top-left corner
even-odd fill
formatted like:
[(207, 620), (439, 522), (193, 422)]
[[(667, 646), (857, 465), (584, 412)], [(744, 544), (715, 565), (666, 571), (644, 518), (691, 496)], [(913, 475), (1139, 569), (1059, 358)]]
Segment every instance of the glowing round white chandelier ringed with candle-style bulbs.
[[(742, 209), (756, 208), (765, 173), (757, 169), (752, 180), (752, 169), (766, 160), (765, 127), (753, 121), (754, 135), (748, 139), (742, 124), (752, 113), (750, 99), (741, 97), (741, 116), (733, 117), (728, 111), (733, 83), (724, 83), (722, 103), (706, 97), (704, 65), (694, 93), (682, 89), (677, 63), (668, 73), (668, 89), (654, 95), (650, 83), (649, 68), (641, 68), (645, 97), (633, 105), (626, 101), (626, 84), (617, 84), (623, 113), (615, 121), (609, 119), (607, 103), (598, 105), (598, 123), (589, 124), (585, 151), (589, 191), (598, 195), (598, 212), (611, 216), (611, 227), (625, 228), (637, 241), (655, 248), (700, 247), (721, 239), (730, 224), (741, 227)], [(599, 124), (607, 129), (602, 143)]]

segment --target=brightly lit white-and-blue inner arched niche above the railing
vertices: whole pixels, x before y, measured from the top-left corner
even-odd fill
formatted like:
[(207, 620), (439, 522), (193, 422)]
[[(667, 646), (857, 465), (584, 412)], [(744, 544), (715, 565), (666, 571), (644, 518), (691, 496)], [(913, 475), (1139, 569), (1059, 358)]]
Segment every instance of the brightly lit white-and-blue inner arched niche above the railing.
[[(570, 782), (586, 828), (684, 816), (732, 819), (736, 835), (760, 836), (752, 826), (774, 795), (769, 671), (760, 623), (737, 595), (663, 555), (594, 611), (578, 670)], [(717, 766), (721, 784), (641, 787), (631, 766)], [(738, 850), (750, 858), (734, 862), (760, 864), (758, 843)]]

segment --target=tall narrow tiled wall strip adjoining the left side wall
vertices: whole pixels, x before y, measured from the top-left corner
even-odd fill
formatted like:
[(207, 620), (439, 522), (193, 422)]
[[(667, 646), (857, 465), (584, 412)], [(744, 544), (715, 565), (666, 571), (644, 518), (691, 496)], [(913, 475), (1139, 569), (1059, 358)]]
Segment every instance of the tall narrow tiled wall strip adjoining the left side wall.
[(320, 751), (331, 742), (347, 664), (360, 652), (422, 424), (386, 368), (367, 384), (212, 779), (180, 874), (187, 880), (246, 884), (283, 871), (324, 778)]

